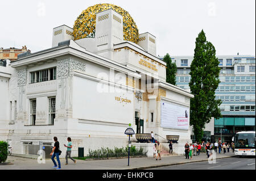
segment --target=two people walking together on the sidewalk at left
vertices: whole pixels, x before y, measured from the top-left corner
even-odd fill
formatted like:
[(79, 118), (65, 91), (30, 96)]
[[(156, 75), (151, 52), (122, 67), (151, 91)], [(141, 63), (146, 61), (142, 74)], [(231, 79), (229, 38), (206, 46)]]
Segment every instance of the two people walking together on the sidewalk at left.
[[(53, 162), (53, 164), (54, 164), (54, 166), (53, 166), (52, 168), (53, 168), (53, 169), (56, 169), (56, 170), (59, 170), (59, 169), (61, 169), (59, 155), (61, 154), (62, 151), (60, 150), (60, 143), (59, 143), (57, 137), (53, 137), (53, 140), (55, 141), (55, 144), (54, 144), (54, 146), (53, 146), (53, 148), (52, 148), (52, 152), (51, 152), (51, 154), (50, 154), (50, 155), (52, 156), (51, 159), (52, 159), (52, 162)], [(71, 138), (68, 137), (68, 138), (67, 138), (67, 141), (68, 141), (68, 144), (67, 144), (67, 145), (64, 144), (64, 146), (67, 147), (66, 157), (65, 157), (65, 158), (66, 158), (66, 163), (65, 163), (65, 165), (68, 165), (68, 158), (72, 159), (72, 161), (73, 161), (74, 163), (76, 163), (76, 160), (71, 157), (71, 149), (72, 149)], [(58, 166), (57, 166), (57, 163), (55, 162), (55, 159), (54, 159), (55, 157), (56, 157), (56, 159), (57, 159)]]

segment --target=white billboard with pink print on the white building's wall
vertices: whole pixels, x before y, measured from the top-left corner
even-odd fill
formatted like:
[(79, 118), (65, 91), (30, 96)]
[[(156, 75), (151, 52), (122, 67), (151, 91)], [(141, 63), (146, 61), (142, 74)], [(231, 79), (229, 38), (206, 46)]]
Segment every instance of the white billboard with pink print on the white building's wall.
[(188, 129), (189, 107), (161, 101), (161, 127), (174, 129)]

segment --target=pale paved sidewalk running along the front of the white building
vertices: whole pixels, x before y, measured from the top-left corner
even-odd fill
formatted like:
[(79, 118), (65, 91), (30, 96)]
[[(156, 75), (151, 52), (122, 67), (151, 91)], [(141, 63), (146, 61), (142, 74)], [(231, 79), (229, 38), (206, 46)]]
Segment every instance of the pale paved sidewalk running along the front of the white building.
[[(234, 157), (234, 153), (219, 154), (216, 153), (216, 159)], [(162, 157), (162, 160), (156, 161), (152, 157), (130, 158), (130, 166), (128, 167), (128, 159), (102, 159), (82, 161), (77, 160), (74, 164), (69, 159), (69, 165), (64, 165), (65, 159), (60, 159), (61, 169), (63, 170), (130, 170), (130, 169), (152, 169), (162, 166), (179, 165), (191, 162), (208, 161), (205, 153), (200, 153), (199, 156), (193, 156), (192, 159), (185, 159), (185, 156), (169, 156)], [(0, 166), (0, 169), (28, 169), (28, 170), (49, 170), (52, 169), (53, 163), (51, 159), (46, 159), (46, 163), (39, 164), (37, 159), (8, 157), (7, 162), (14, 165)]]

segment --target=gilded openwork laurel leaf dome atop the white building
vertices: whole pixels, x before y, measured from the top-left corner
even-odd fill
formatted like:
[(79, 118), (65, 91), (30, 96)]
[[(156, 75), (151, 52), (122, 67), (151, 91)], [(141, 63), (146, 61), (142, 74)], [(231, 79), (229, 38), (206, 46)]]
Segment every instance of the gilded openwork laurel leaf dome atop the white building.
[(84, 37), (95, 37), (96, 14), (97, 12), (109, 9), (113, 9), (123, 16), (123, 39), (137, 43), (139, 39), (139, 31), (129, 12), (123, 10), (119, 6), (108, 3), (90, 6), (88, 9), (82, 11), (73, 26), (74, 39), (79, 40)]

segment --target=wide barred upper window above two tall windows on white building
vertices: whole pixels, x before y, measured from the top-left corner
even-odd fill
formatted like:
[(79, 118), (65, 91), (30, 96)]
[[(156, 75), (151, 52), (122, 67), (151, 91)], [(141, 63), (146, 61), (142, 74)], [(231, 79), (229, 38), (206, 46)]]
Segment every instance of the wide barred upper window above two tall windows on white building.
[(30, 73), (30, 83), (51, 81), (56, 79), (56, 68), (39, 70)]

